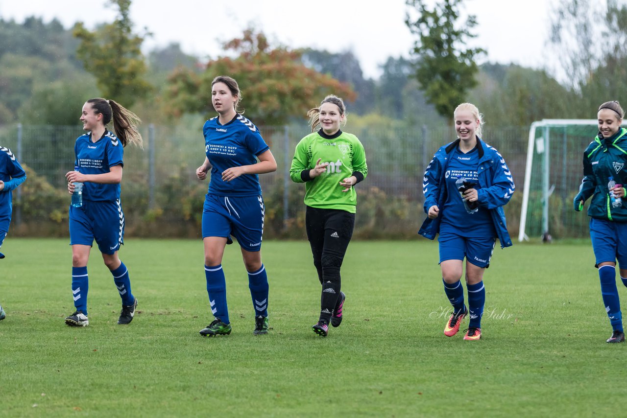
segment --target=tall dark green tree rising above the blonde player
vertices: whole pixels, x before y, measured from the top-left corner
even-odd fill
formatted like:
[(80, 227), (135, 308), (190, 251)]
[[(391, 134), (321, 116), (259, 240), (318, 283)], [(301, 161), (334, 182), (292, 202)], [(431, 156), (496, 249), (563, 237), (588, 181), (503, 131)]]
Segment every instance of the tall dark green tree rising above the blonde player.
[(406, 0), (409, 6), (405, 24), (416, 35), (412, 52), (416, 78), (429, 103), (440, 115), (451, 118), (458, 104), (466, 102), (468, 91), (477, 85), (475, 57), (481, 48), (465, 48), (470, 32), (477, 25), (470, 15), (458, 24), (462, 0), (442, 0), (432, 10), (426, 0)]

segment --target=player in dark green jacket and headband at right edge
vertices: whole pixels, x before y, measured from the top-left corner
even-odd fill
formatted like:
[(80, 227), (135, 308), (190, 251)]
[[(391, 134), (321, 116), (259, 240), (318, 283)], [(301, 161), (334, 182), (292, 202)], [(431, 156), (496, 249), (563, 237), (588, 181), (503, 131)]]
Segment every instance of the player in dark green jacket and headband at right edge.
[[(594, 258), (599, 269), (601, 296), (612, 326), (608, 343), (625, 340), (623, 315), (616, 288), (616, 260), (620, 264), (623, 285), (627, 286), (627, 206), (624, 204), (627, 184), (627, 129), (621, 128), (623, 108), (618, 102), (606, 102), (597, 113), (599, 133), (584, 151), (584, 178), (573, 203), (581, 211), (584, 202), (592, 197), (588, 207), (590, 238)], [(609, 189), (609, 179), (615, 185)]]

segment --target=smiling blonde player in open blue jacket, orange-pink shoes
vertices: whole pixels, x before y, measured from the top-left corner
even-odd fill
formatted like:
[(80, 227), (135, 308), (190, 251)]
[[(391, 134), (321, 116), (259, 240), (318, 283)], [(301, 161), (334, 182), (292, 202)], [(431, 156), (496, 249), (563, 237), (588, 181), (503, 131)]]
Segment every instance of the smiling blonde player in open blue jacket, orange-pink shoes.
[[(455, 335), (470, 315), (464, 340), (478, 340), (485, 305), (483, 271), (490, 265), (496, 238), (501, 248), (512, 245), (503, 205), (514, 193), (514, 180), (503, 157), (480, 138), (483, 121), (477, 107), (462, 103), (454, 117), (457, 140), (441, 147), (424, 172), (428, 218), (418, 233), (429, 239), (440, 234), (444, 291), (453, 305), (444, 335)], [(468, 308), (460, 281), (464, 258)]]

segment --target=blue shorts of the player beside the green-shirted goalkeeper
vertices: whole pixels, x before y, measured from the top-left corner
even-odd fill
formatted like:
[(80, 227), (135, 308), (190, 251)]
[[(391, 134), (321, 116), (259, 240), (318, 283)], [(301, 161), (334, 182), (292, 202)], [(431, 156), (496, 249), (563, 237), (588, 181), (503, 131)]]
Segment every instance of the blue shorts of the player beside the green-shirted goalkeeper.
[(263, 197), (228, 197), (208, 193), (203, 207), (203, 238), (237, 238), (246, 251), (260, 251), (265, 206)]

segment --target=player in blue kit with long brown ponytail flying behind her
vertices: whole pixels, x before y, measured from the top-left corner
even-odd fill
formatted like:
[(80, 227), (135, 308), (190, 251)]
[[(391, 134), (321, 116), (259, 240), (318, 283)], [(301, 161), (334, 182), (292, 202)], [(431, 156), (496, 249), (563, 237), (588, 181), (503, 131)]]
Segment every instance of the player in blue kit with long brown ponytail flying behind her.
[[(118, 250), (124, 244), (124, 212), (120, 205), (120, 182), (124, 162), (123, 148), (129, 144), (142, 145), (137, 132), (139, 118), (113, 100), (93, 98), (83, 105), (80, 120), (87, 131), (76, 139), (75, 167), (68, 172), (68, 191), (74, 192), (74, 182), (83, 183), (83, 203), (70, 206), (70, 245), (72, 246), (72, 297), (75, 312), (65, 318), (73, 327), (87, 327), (87, 261), (93, 241), (98, 244), (105, 266), (122, 298), (119, 324), (133, 320), (137, 299), (130, 291), (129, 271)], [(115, 135), (107, 130), (113, 120)]]

